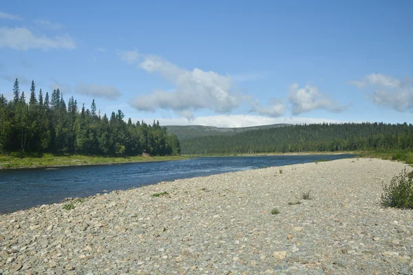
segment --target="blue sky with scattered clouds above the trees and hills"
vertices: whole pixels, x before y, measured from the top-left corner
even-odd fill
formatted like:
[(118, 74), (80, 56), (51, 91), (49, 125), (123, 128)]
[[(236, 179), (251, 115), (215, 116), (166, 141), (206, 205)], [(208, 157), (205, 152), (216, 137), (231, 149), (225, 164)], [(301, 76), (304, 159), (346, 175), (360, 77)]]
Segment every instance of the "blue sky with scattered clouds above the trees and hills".
[(65, 2), (0, 3), (0, 94), (34, 80), (161, 125), (412, 122), (413, 1)]

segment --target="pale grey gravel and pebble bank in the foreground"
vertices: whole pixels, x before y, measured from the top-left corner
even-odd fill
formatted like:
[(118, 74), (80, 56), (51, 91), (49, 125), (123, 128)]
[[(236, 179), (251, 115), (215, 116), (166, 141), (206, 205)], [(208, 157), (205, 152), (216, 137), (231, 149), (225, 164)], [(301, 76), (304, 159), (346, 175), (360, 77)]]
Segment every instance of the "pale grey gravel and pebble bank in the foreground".
[(413, 211), (380, 205), (403, 167), (297, 164), (1, 215), (0, 274), (412, 274)]

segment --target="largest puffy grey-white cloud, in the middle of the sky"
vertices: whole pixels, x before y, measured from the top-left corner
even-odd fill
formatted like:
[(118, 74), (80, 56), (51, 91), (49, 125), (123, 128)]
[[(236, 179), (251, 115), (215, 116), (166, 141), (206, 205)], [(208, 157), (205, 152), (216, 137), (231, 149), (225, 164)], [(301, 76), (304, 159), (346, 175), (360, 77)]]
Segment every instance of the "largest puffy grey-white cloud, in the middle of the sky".
[(174, 91), (155, 90), (151, 94), (136, 97), (131, 106), (138, 110), (172, 110), (185, 118), (193, 118), (193, 111), (197, 109), (226, 113), (242, 100), (231, 93), (232, 80), (229, 75), (204, 72), (198, 68), (188, 71), (159, 56), (144, 56), (137, 51), (123, 52), (120, 58), (127, 63), (138, 63), (138, 68), (150, 74), (160, 74), (175, 86)]

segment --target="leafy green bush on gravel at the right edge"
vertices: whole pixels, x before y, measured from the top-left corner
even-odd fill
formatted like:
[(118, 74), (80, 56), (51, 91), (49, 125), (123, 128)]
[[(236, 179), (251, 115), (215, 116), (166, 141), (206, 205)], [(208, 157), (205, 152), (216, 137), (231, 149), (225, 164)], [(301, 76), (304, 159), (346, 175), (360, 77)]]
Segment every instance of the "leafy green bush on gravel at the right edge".
[(413, 172), (404, 168), (389, 185), (383, 183), (381, 203), (387, 207), (413, 209)]

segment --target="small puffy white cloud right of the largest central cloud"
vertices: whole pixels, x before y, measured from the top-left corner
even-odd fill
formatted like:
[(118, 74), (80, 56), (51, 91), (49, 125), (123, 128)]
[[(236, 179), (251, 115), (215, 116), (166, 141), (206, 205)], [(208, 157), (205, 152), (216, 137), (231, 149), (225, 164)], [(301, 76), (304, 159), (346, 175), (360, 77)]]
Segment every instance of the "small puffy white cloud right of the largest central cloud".
[(290, 86), (288, 100), (293, 105), (293, 115), (306, 113), (315, 109), (325, 109), (326, 111), (340, 112), (346, 109), (337, 102), (330, 100), (324, 94), (320, 94), (316, 86), (306, 85), (299, 88), (297, 83)]

